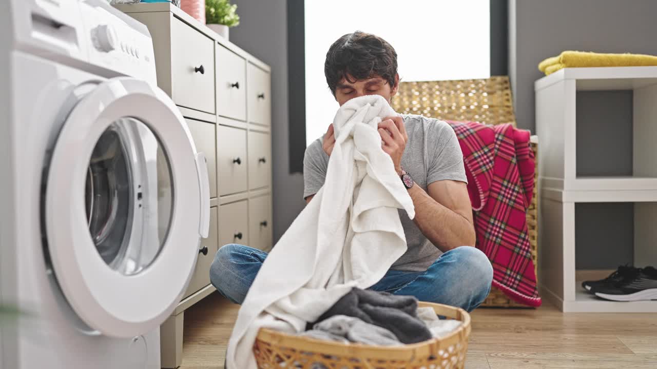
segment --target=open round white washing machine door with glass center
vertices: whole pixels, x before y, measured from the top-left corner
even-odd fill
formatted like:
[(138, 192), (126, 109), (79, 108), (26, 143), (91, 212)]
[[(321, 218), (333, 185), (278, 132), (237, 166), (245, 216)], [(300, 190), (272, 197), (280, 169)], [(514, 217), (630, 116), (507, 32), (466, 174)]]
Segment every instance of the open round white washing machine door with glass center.
[(99, 84), (66, 119), (45, 186), (49, 257), (79, 317), (114, 337), (164, 322), (210, 213), (204, 156), (170, 98), (137, 79)]

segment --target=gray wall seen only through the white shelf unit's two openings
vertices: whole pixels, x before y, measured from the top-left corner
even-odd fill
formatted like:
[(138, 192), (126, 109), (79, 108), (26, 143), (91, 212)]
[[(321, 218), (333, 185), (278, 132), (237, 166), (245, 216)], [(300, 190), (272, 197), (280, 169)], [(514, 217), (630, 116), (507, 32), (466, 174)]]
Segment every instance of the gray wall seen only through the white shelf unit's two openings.
[[(578, 176), (632, 175), (632, 91), (576, 96)], [(633, 263), (634, 204), (575, 204), (575, 267), (615, 269)]]

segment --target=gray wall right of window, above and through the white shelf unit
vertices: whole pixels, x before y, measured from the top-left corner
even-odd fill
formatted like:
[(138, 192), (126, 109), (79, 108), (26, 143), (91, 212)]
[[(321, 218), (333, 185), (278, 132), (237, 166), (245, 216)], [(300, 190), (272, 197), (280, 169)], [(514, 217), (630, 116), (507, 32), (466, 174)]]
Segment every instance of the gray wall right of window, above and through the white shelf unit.
[[(543, 76), (541, 60), (564, 50), (657, 54), (654, 14), (653, 0), (509, 0), (509, 76), (518, 126), (535, 131), (533, 83)], [(631, 98), (627, 91), (578, 94), (579, 175), (631, 173)], [(576, 268), (631, 263), (632, 219), (632, 204), (578, 204)], [(617, 226), (613, 233), (608, 225)]]

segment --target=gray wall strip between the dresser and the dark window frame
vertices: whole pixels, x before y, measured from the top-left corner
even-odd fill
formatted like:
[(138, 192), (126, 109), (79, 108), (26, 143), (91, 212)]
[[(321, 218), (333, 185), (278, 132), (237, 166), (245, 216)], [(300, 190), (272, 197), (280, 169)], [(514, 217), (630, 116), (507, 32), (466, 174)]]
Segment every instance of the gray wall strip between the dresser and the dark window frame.
[(304, 177), (290, 175), (288, 160), (288, 66), (285, 0), (233, 0), (240, 25), (230, 40), (271, 66), (274, 242), (304, 208)]

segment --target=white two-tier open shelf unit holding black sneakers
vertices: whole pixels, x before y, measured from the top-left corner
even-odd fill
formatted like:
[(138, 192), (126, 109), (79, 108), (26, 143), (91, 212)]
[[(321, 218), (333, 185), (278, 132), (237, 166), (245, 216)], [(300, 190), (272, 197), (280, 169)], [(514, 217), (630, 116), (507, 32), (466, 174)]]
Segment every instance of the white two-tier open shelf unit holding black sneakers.
[[(615, 302), (576, 280), (577, 203), (634, 204), (634, 265), (657, 263), (657, 67), (564, 68), (534, 84), (539, 146), (539, 281), (564, 312), (657, 312), (657, 301)], [(576, 167), (578, 91), (633, 91), (632, 175), (581, 176)]]

